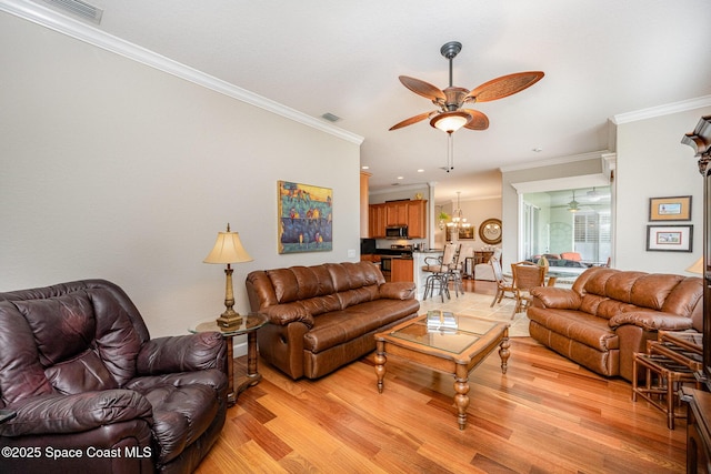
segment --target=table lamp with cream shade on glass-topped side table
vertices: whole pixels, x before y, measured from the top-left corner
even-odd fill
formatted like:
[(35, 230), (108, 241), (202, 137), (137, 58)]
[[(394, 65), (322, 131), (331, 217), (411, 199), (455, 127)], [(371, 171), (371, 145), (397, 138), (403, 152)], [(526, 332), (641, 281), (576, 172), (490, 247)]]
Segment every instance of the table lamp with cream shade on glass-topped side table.
[(233, 330), (242, 323), (242, 317), (236, 312), (234, 293), (232, 291), (232, 268), (231, 263), (251, 262), (253, 259), (247, 253), (240, 241), (238, 232), (230, 232), (230, 224), (227, 224), (227, 232), (218, 232), (218, 239), (214, 242), (212, 251), (203, 260), (204, 263), (222, 263), (227, 264), (224, 274), (227, 275), (227, 284), (224, 286), (224, 306), (227, 307), (220, 317), (217, 319), (218, 326), (221, 330)]

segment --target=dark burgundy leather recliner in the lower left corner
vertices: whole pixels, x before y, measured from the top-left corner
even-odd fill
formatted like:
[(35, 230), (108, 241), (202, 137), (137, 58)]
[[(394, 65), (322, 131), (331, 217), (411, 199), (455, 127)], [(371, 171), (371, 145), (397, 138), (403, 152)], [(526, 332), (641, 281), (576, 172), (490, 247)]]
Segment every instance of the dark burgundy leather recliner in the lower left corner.
[(2, 473), (188, 473), (224, 424), (219, 333), (150, 339), (116, 284), (0, 293)]

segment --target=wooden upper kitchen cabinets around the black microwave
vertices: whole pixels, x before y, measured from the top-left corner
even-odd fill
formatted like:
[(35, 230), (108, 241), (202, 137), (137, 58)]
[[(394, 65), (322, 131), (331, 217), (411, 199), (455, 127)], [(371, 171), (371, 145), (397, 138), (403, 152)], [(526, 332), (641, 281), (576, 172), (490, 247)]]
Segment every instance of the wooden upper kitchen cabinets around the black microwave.
[(371, 204), (368, 215), (371, 239), (384, 239), (388, 225), (407, 225), (410, 239), (427, 238), (427, 200)]

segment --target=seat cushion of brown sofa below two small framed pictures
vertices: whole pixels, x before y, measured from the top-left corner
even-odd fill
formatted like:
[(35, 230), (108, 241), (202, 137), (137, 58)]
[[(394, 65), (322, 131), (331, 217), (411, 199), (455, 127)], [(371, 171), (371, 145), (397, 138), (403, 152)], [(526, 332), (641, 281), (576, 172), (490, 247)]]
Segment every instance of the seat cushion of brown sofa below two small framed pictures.
[(574, 310), (529, 307), (528, 316), (550, 331), (598, 351), (619, 349), (619, 337), (608, 320)]

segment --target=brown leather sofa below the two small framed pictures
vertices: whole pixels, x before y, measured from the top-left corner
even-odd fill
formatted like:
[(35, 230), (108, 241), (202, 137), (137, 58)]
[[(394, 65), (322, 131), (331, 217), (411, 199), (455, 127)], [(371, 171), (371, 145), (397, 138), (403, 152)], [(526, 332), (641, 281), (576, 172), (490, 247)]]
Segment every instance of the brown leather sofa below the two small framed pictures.
[(659, 330), (702, 331), (700, 278), (592, 268), (572, 289), (531, 290), (531, 337), (605, 376), (632, 381), (635, 352)]

